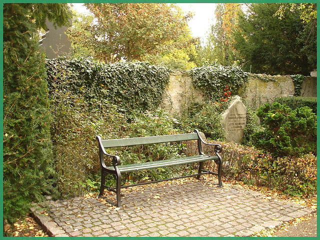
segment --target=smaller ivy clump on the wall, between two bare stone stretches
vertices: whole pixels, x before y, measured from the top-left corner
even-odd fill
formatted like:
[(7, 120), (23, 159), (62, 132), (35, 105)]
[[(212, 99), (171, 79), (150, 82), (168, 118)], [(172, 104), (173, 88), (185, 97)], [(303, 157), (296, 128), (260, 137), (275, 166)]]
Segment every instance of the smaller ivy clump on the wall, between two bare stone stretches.
[(225, 99), (226, 95), (238, 94), (239, 88), (248, 82), (248, 74), (240, 67), (222, 66), (217, 62), (194, 67), (187, 74), (191, 76), (194, 87), (213, 101)]

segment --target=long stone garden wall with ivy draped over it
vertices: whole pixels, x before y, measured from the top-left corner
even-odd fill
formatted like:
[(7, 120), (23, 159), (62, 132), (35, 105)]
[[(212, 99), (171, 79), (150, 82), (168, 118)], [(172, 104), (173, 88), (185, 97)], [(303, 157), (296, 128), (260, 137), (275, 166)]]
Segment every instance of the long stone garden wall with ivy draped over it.
[[(181, 115), (191, 102), (223, 102), (230, 95), (243, 97), (257, 109), (280, 96), (316, 96), (316, 77), (250, 74), (220, 64), (194, 67), (186, 72), (146, 62), (102, 64), (91, 59), (58, 57), (46, 62), (51, 93), (71, 91), (89, 101), (108, 100), (122, 112), (160, 106)], [(64, 79), (64, 80), (62, 80)]]

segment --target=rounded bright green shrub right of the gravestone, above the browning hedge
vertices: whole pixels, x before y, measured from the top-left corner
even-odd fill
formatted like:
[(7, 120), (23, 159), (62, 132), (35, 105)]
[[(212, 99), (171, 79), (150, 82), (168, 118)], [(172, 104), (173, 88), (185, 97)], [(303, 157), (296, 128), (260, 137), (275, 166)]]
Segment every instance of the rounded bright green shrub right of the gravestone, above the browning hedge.
[(257, 110), (263, 131), (252, 135), (253, 144), (273, 156), (300, 156), (316, 152), (316, 115), (307, 106), (292, 110), (274, 102)]

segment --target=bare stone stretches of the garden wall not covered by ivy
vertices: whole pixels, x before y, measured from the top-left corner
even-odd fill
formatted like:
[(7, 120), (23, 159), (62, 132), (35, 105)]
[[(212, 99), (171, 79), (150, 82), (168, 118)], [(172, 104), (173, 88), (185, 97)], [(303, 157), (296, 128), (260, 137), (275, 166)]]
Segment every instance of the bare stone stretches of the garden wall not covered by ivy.
[[(268, 81), (262, 80), (267, 79)], [(257, 74), (257, 77), (250, 76), (247, 87), (238, 93), (246, 106), (257, 109), (261, 104), (272, 103), (278, 96), (293, 96), (294, 84), (289, 75), (271, 76)], [(301, 85), (301, 96), (316, 96), (316, 77), (306, 76)], [(192, 86), (192, 79), (175, 71), (170, 75), (169, 85), (166, 87), (163, 96), (162, 107), (173, 115), (181, 115), (187, 109), (190, 102), (204, 100), (203, 95)]]

